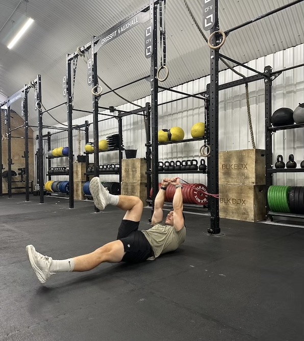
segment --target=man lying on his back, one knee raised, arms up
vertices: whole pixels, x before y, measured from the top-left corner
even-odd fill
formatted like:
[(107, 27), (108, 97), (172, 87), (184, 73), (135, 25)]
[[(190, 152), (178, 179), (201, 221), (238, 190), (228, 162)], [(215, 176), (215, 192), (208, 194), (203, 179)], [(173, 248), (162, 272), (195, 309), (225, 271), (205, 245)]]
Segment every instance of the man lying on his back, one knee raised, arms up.
[[(163, 206), (168, 185), (175, 186), (173, 210), (163, 220)], [(104, 262), (119, 263), (154, 260), (161, 254), (176, 250), (186, 239), (183, 214), (182, 185), (178, 177), (164, 178), (155, 198), (152, 227), (138, 230), (143, 203), (135, 196), (113, 195), (103, 187), (99, 177), (90, 181), (90, 192), (95, 206), (103, 210), (108, 204), (126, 211), (118, 228), (117, 240), (82, 256), (55, 260), (37, 252), (33, 245), (26, 250), (31, 266), (41, 283), (58, 272), (89, 271)]]

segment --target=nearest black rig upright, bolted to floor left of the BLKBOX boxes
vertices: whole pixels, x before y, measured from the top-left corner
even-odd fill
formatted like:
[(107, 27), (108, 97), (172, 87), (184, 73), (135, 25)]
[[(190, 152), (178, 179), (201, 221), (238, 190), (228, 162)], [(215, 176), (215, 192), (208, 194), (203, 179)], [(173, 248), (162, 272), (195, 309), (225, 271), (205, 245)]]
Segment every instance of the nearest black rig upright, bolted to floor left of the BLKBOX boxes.
[[(210, 34), (219, 30), (218, 25), (218, 0), (214, 0), (214, 26), (210, 30)], [(217, 35), (211, 41), (216, 44)], [(219, 193), (218, 185), (218, 61), (219, 49), (210, 49), (210, 92), (209, 92), (209, 143), (211, 153), (208, 160), (208, 191), (211, 194)], [(208, 206), (210, 208), (210, 228), (208, 232), (211, 234), (220, 233), (219, 227), (219, 200), (209, 196)]]

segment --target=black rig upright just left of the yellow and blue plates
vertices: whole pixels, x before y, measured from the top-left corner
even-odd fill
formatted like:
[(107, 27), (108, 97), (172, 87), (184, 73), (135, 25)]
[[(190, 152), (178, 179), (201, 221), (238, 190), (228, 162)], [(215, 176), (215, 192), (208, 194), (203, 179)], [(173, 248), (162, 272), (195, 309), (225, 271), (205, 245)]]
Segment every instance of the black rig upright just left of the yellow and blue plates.
[(43, 187), (44, 187), (44, 176), (43, 176), (43, 137), (42, 137), (42, 93), (41, 93), (41, 75), (38, 74), (37, 76), (37, 102), (36, 107), (38, 111), (38, 164), (39, 164), (39, 195), (40, 195), (40, 203), (44, 203), (43, 197)]

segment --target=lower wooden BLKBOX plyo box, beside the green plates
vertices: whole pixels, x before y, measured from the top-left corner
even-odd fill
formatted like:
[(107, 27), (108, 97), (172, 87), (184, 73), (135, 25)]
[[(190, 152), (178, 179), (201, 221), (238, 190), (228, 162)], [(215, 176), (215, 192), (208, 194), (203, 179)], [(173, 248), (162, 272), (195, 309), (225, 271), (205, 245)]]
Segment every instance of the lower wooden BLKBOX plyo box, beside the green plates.
[(266, 219), (266, 186), (219, 185), (219, 216), (251, 222)]

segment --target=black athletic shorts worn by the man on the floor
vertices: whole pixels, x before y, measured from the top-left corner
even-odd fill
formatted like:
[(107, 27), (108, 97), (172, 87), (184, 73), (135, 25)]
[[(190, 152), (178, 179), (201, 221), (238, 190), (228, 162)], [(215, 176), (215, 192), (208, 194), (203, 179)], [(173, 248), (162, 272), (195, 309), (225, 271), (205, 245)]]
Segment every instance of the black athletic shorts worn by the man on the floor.
[(118, 229), (117, 239), (124, 247), (122, 261), (138, 263), (153, 256), (153, 250), (144, 234), (138, 230), (139, 221), (122, 220)]

